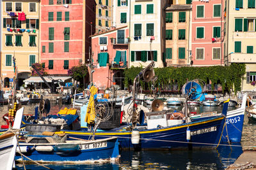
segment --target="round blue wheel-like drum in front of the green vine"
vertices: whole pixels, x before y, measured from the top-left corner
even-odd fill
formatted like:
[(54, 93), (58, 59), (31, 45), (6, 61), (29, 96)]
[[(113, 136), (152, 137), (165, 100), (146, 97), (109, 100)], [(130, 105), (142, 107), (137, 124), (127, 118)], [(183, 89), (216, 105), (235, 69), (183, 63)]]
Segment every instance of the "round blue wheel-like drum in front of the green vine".
[(204, 91), (205, 91), (205, 82), (200, 79), (188, 81), (182, 87), (182, 94), (185, 97), (188, 97), (188, 99), (191, 101), (201, 97)]

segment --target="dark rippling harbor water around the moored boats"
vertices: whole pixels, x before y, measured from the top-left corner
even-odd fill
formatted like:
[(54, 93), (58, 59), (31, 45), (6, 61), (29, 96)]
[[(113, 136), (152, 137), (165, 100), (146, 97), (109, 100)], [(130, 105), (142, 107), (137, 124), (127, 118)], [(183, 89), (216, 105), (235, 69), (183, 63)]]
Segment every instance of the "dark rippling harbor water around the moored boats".
[[(24, 114), (34, 114), (36, 104), (24, 105)], [(56, 114), (60, 109), (70, 106), (60, 106), (51, 103), (51, 114)], [(182, 107), (174, 106), (171, 110), (180, 111)], [(232, 110), (235, 108), (229, 108)], [(191, 107), (190, 111), (221, 112), (221, 107)], [(1, 117), (7, 113), (7, 106), (0, 107)], [(0, 124), (5, 124), (1, 118)], [(241, 144), (232, 146), (218, 146), (216, 150), (161, 150), (161, 151), (140, 151), (120, 150), (120, 161), (116, 164), (54, 164), (45, 165), (51, 169), (225, 169), (233, 164), (237, 157), (243, 153), (242, 147), (255, 146), (256, 124), (249, 124), (248, 118), (244, 117), (244, 128)], [(22, 164), (17, 164), (17, 169), (24, 169)], [(45, 167), (27, 164), (26, 169), (45, 169)]]

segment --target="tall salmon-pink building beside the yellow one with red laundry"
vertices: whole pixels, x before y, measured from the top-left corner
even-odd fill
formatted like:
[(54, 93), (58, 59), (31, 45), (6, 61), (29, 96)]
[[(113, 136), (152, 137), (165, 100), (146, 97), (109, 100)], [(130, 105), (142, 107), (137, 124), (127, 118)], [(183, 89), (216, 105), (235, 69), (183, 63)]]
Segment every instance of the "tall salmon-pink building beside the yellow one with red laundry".
[(87, 62), (95, 6), (95, 1), (83, 0), (41, 2), (40, 61), (47, 73), (67, 74), (72, 66)]

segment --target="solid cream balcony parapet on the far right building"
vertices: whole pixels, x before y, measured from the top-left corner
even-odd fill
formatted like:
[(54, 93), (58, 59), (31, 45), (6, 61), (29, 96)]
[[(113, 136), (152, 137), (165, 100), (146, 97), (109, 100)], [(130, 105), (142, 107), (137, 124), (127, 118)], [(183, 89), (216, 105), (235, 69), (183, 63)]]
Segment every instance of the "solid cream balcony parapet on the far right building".
[(255, 63), (256, 53), (230, 53), (228, 54), (228, 62)]

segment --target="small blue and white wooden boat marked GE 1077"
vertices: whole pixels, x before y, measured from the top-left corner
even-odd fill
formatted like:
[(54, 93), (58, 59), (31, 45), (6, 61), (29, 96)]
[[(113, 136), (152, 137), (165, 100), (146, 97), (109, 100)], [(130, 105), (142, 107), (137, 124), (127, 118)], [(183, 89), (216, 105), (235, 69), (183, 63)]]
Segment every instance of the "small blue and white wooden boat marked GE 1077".
[[(92, 162), (116, 162), (118, 160), (118, 139), (115, 137), (94, 141), (70, 140), (65, 143), (19, 143), (15, 160), (31, 160), (42, 163), (86, 164)], [(31, 160), (29, 160), (31, 159)]]

